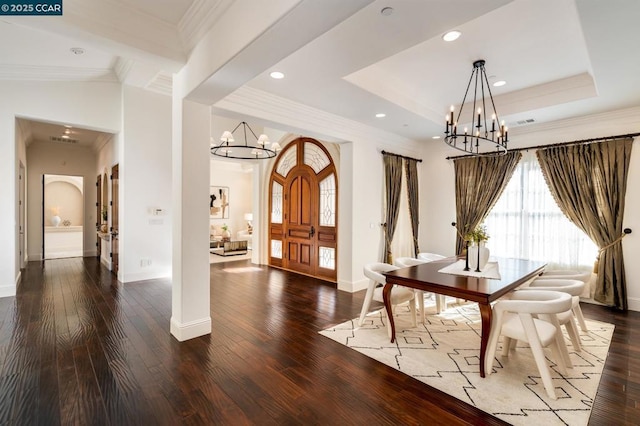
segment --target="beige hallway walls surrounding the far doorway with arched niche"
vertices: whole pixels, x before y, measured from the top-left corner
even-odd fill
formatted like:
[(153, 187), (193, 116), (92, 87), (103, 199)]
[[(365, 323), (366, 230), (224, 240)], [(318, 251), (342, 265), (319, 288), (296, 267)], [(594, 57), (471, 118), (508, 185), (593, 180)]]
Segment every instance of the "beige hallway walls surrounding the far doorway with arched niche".
[[(27, 254), (29, 260), (42, 259), (42, 175), (70, 175), (83, 177), (84, 202), (82, 208), (83, 255), (95, 256), (95, 152), (91, 148), (62, 143), (32, 142), (27, 148)], [(50, 184), (51, 185), (51, 184)], [(50, 213), (50, 212), (49, 212)], [(67, 219), (65, 206), (60, 217)], [(45, 219), (50, 214), (45, 213)], [(50, 223), (45, 223), (50, 225)], [(78, 223), (74, 223), (78, 225)]]

